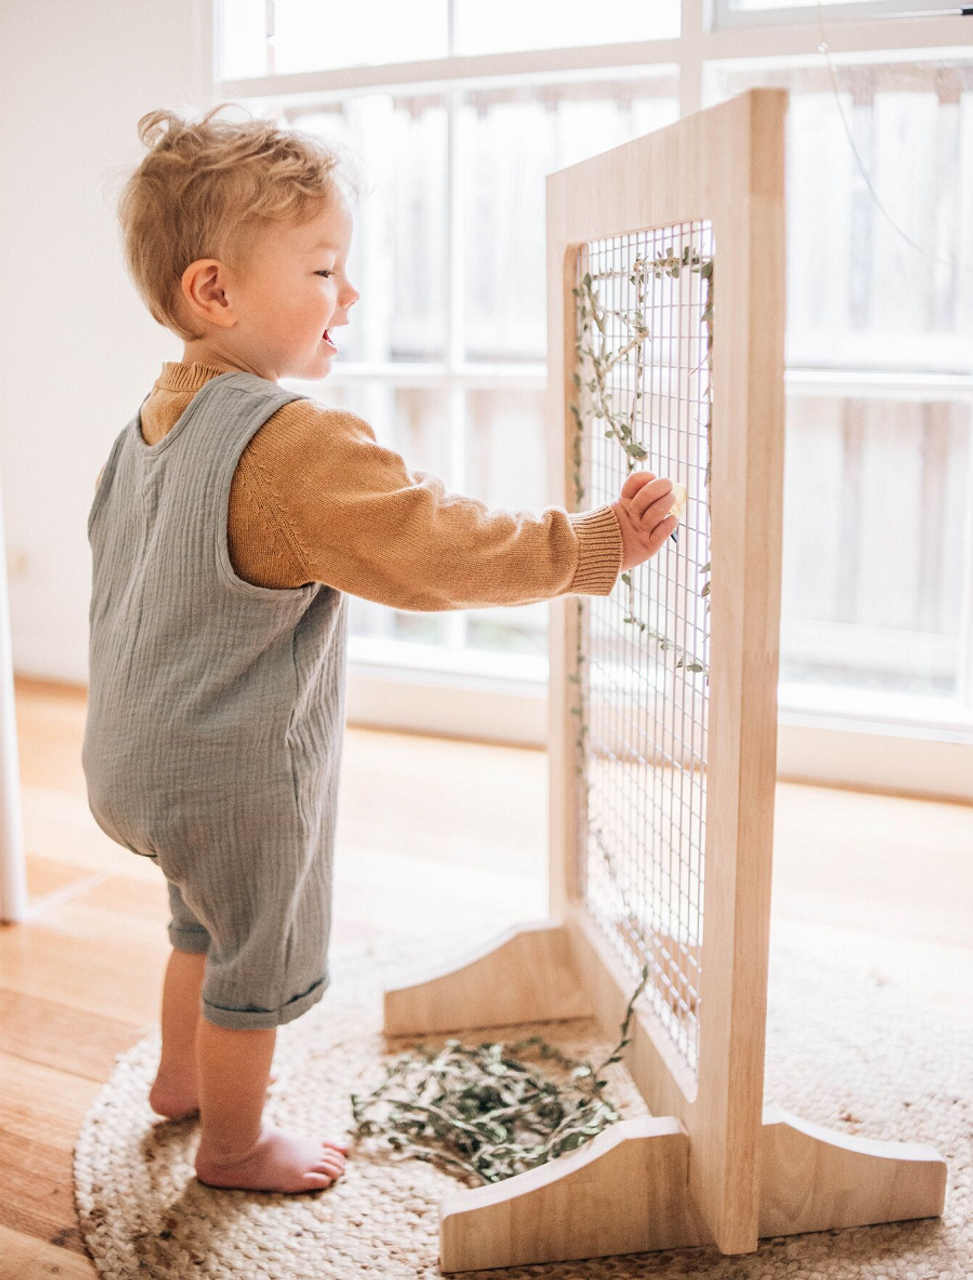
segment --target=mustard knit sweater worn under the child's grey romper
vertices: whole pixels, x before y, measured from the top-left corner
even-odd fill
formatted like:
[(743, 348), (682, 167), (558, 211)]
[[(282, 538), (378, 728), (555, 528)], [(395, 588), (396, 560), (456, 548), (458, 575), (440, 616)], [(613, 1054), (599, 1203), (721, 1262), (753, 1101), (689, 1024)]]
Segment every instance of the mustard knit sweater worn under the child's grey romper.
[[(164, 364), (141, 408), (146, 444), (157, 444), (221, 372)], [(410, 470), (364, 419), (314, 399), (284, 404), (243, 449), (227, 544), (234, 571), (257, 586), (325, 582), (416, 611), (608, 595), (622, 557), (611, 506), (540, 516), (489, 509)]]

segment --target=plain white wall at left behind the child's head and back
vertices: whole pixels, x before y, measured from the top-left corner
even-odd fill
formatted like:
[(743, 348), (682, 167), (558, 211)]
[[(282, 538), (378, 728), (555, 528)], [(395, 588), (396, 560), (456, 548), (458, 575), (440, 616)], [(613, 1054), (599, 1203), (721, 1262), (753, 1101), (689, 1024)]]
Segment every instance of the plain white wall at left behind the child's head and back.
[(182, 343), (149, 315), (114, 200), (154, 108), (213, 104), (205, 0), (0, 0), (0, 483), (14, 669), (87, 684), (87, 516)]

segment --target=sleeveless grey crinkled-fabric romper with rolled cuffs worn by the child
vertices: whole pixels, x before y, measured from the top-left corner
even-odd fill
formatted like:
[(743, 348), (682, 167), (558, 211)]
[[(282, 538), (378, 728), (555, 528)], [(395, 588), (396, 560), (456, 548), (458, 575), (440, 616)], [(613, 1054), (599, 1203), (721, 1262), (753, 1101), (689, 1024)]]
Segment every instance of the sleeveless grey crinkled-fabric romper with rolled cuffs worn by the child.
[(247, 582), (227, 547), (241, 453), (305, 398), (220, 374), (154, 445), (140, 407), (88, 515), (88, 806), (160, 867), (218, 1027), (288, 1023), (330, 982), (347, 596)]

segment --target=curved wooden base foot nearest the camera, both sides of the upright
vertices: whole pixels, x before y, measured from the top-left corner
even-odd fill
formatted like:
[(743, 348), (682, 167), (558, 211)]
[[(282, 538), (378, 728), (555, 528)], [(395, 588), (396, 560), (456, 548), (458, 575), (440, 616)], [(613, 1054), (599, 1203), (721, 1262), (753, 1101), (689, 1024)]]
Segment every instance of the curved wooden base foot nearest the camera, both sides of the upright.
[[(946, 1164), (922, 1143), (874, 1142), (764, 1108), (762, 1238), (938, 1217)], [(570, 1156), (446, 1196), (439, 1265), (479, 1271), (713, 1244), (689, 1192), (675, 1116), (611, 1125)]]

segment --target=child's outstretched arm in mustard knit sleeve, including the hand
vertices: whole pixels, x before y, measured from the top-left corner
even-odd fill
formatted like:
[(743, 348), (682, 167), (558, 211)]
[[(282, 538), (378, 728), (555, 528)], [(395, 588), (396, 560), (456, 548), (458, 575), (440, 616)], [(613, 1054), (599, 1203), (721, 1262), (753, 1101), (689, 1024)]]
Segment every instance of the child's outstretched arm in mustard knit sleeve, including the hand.
[[(274, 417), (273, 431), (257, 433), (243, 462), (268, 521), (302, 558), (303, 580), (393, 608), (608, 595), (622, 567), (654, 554), (675, 527), (663, 511), (672, 485), (647, 472), (638, 474), (638, 492), (626, 492), (630, 476), (618, 502), (593, 511), (490, 509), (411, 470), (356, 413), (294, 401)], [(652, 502), (639, 497), (649, 481)]]

